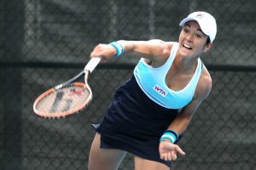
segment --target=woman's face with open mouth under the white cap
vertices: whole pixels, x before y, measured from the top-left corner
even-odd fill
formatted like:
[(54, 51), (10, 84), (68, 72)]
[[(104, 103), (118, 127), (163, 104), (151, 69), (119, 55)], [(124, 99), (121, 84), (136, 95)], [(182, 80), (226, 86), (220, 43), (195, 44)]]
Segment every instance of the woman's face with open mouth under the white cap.
[(207, 38), (195, 20), (188, 21), (179, 35), (179, 53), (189, 57), (200, 55), (212, 47), (212, 43), (207, 44)]

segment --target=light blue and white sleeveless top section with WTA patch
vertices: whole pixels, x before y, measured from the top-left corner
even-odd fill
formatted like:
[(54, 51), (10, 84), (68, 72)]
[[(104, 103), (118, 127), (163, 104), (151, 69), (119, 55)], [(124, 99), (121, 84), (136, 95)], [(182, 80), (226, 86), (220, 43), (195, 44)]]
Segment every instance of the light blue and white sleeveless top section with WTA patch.
[(134, 69), (134, 76), (143, 92), (155, 103), (168, 109), (181, 109), (193, 99), (197, 82), (201, 76), (202, 63), (198, 64), (194, 76), (185, 88), (174, 91), (166, 85), (166, 74), (172, 66), (177, 54), (178, 43), (174, 42), (169, 58), (164, 65), (154, 68), (148, 65), (144, 59), (140, 59)]

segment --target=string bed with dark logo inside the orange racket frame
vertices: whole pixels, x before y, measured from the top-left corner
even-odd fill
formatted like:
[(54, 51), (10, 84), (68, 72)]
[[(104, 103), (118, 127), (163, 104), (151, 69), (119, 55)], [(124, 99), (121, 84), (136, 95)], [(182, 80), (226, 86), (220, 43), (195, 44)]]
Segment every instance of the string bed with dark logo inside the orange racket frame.
[(58, 114), (68, 112), (89, 102), (90, 91), (79, 86), (60, 88), (38, 102), (36, 109), (42, 113)]

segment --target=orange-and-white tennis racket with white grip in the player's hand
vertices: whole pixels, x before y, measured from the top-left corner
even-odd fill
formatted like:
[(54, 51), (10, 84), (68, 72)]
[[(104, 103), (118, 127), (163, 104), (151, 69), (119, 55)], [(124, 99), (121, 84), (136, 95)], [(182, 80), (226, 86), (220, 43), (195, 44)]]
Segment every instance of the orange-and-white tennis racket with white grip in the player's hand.
[[(33, 104), (33, 111), (38, 116), (59, 118), (83, 110), (92, 99), (92, 92), (87, 82), (89, 74), (100, 61), (101, 58), (91, 58), (78, 75), (39, 95)], [(75, 82), (82, 76), (84, 82)]]

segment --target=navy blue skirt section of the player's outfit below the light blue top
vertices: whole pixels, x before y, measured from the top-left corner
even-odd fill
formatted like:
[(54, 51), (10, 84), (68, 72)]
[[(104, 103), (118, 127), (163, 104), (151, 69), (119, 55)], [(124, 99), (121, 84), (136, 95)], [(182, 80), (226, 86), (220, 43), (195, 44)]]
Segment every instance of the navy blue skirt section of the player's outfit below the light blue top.
[(149, 99), (135, 77), (120, 86), (100, 125), (101, 148), (125, 150), (151, 161), (171, 166), (160, 159), (160, 137), (178, 111), (166, 109)]

